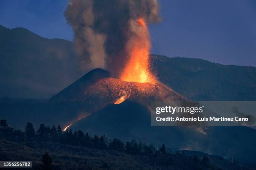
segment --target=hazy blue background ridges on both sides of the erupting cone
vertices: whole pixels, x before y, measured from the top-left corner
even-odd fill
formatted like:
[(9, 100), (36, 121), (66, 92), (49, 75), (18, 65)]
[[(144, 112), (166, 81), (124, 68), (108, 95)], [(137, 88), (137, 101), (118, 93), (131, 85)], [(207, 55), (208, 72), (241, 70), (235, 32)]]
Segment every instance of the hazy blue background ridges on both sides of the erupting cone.
[[(72, 42), (0, 25), (0, 97), (51, 97), (81, 77)], [(161, 82), (190, 100), (256, 100), (256, 68), (151, 56)]]

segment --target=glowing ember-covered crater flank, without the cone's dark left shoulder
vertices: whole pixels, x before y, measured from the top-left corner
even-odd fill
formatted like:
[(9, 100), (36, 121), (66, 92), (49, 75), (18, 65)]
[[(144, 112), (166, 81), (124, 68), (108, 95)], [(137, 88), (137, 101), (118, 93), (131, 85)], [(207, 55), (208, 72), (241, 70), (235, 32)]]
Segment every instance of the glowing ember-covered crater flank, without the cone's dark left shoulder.
[(105, 102), (114, 104), (120, 104), (126, 99), (141, 103), (153, 100), (185, 100), (174, 90), (157, 82), (128, 82), (113, 77), (97, 81), (84, 94), (89, 98), (100, 97)]

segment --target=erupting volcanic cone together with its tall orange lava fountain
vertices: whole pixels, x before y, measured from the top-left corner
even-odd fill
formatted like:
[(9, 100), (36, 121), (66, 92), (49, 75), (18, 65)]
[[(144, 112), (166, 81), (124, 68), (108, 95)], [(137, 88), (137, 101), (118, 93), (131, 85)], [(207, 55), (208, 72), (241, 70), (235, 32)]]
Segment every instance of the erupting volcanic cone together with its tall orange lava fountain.
[(119, 78), (111, 77), (105, 70), (95, 69), (52, 99), (86, 101), (96, 109), (120, 104), (127, 99), (146, 105), (153, 100), (186, 100), (150, 72), (151, 42), (144, 18), (131, 19), (128, 25), (129, 36), (125, 45), (128, 60), (120, 70)]

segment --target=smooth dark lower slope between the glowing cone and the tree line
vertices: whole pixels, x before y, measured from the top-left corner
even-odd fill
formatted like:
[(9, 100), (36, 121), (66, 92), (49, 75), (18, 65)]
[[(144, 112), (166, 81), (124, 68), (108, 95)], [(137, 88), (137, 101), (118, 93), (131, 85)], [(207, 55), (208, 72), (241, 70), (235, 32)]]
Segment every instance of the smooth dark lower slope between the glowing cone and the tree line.
[(105, 134), (108, 138), (136, 139), (147, 143), (165, 143), (173, 150), (198, 150), (221, 155), (241, 163), (253, 164), (256, 155), (256, 130), (248, 127), (174, 127), (151, 126), (150, 111), (129, 100), (108, 105), (75, 122), (72, 130)]

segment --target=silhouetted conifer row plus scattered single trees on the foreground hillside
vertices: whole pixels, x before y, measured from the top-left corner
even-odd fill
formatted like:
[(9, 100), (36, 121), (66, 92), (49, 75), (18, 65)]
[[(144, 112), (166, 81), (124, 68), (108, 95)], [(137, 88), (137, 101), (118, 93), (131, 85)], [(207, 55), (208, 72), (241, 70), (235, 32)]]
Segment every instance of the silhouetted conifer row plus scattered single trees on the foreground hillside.
[[(20, 130), (14, 130), (8, 126), (6, 120), (0, 120), (0, 138), (5, 136), (5, 138), (10, 137), (10, 140), (17, 139), (14, 136), (20, 136), (24, 138), (26, 135), (26, 141), (50, 141), (56, 143), (62, 143), (73, 146), (83, 146), (87, 148), (94, 148), (97, 150), (116, 150), (119, 152), (131, 154), (131, 155), (149, 155), (154, 157), (154, 162), (157, 165), (173, 165), (172, 154), (166, 150), (164, 144), (158, 150), (154, 145), (146, 145), (146, 143), (139, 142), (136, 140), (131, 140), (131, 142), (123, 143), (120, 139), (108, 140), (105, 135), (102, 136), (90, 136), (88, 133), (83, 133), (81, 130), (72, 132), (72, 129), (62, 130), (61, 126), (57, 127), (53, 125), (52, 127), (41, 124), (38, 130), (35, 130), (33, 124), (28, 122), (25, 128), (25, 132)], [(19, 140), (20, 140), (19, 139)], [(43, 166), (52, 167), (51, 158), (48, 153), (43, 155), (42, 163)], [(109, 169), (109, 165), (105, 163), (103, 165), (106, 169)], [(204, 156), (202, 160), (199, 160), (197, 156), (194, 156), (192, 160), (192, 170), (205, 170), (211, 169), (210, 160), (207, 156)], [(47, 169), (47, 168), (46, 168)]]

